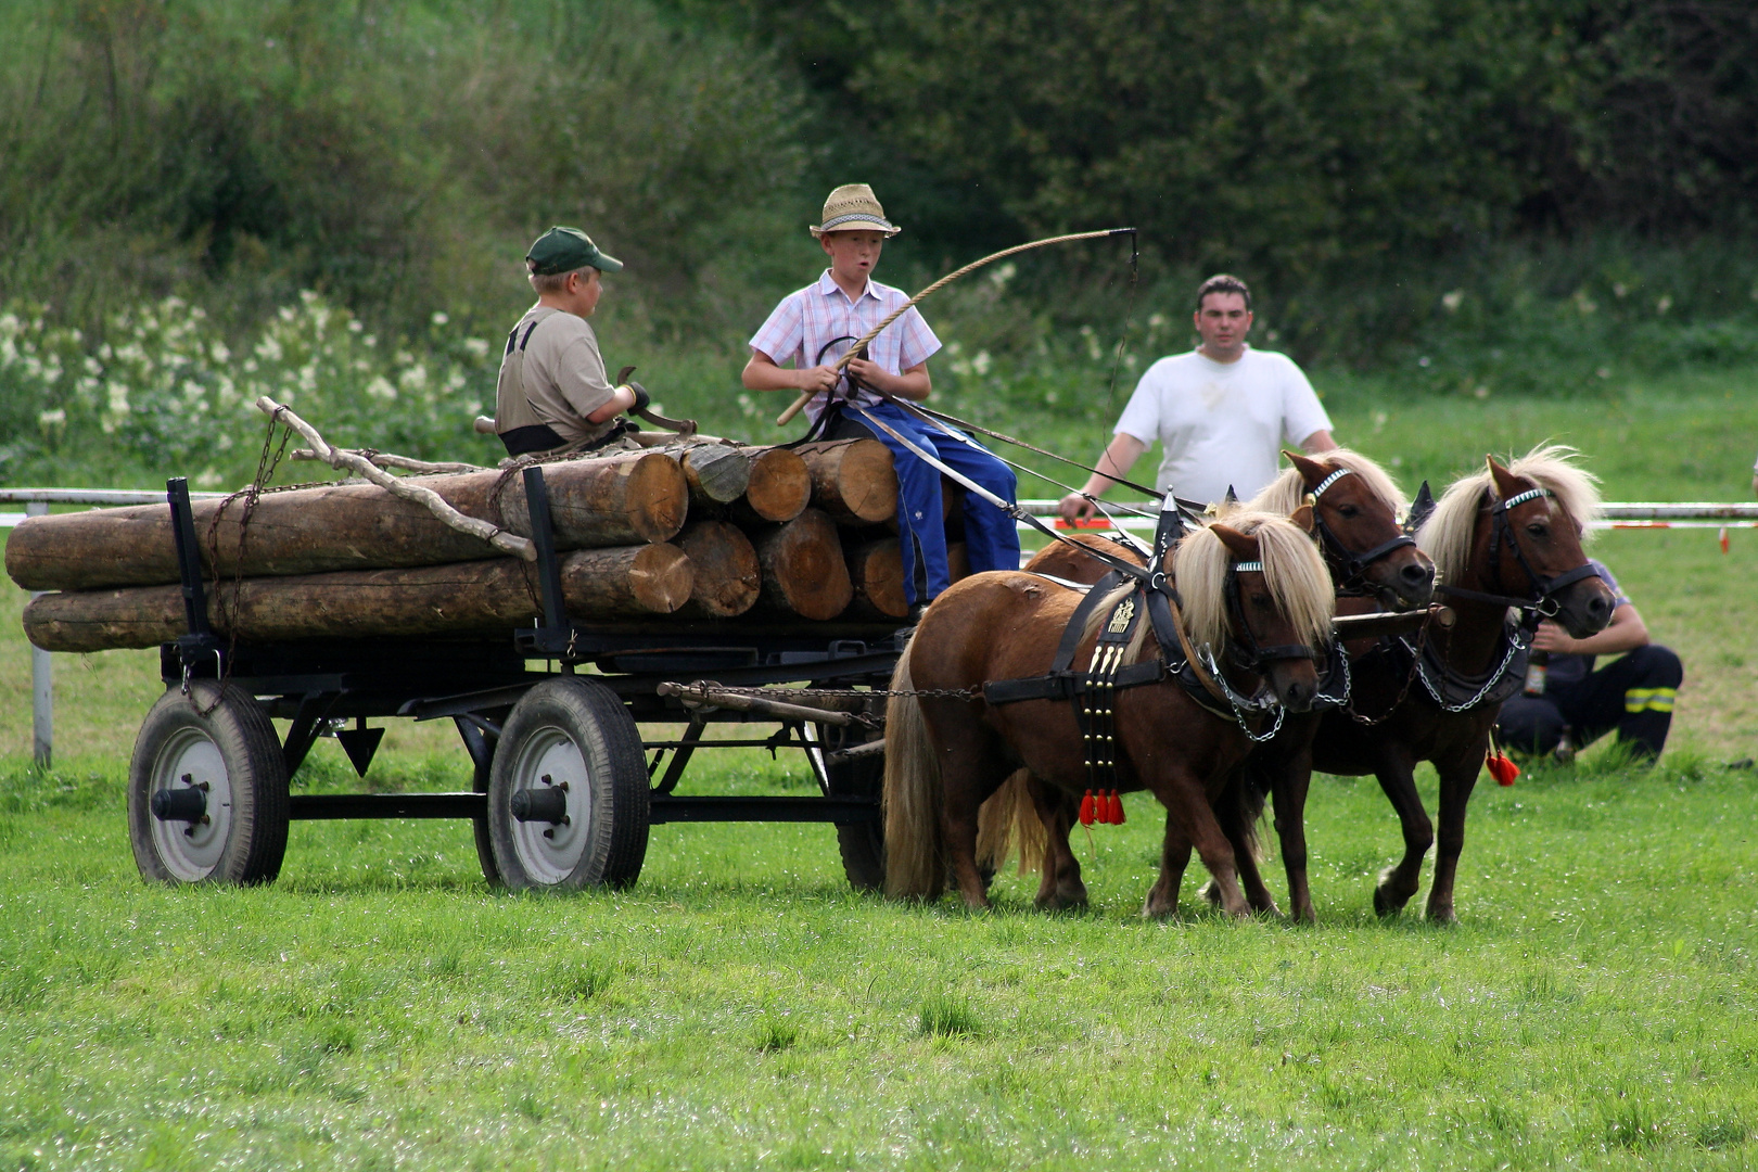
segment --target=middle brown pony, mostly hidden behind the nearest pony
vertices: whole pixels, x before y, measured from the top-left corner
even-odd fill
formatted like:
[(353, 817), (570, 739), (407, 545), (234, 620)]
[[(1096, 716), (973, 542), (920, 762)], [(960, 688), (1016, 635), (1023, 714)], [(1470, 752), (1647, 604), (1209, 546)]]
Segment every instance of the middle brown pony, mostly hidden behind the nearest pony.
[[(1345, 448), (1327, 452), (1322, 459), (1294, 452), (1283, 455), (1292, 467), (1239, 508), (1287, 515), (1317, 492), (1315, 536), (1338, 594), (1371, 596), (1387, 610), (1426, 606), (1435, 589), (1435, 564), (1403, 539), (1403, 527), (1398, 522), (1401, 492), (1392, 478), (1371, 459)], [(1132, 550), (1108, 538), (1083, 534), (1076, 539), (1129, 561), (1141, 561)], [(1085, 557), (1062, 543), (1041, 550), (1027, 562), (1027, 569), (1071, 582), (1097, 582), (1104, 573), (1097, 559)], [(1282, 731), (1252, 754), (1243, 784), (1224, 791), (1217, 803), (1217, 815), (1234, 847), (1246, 901), (1255, 912), (1276, 912), (1275, 898), (1257, 870), (1253, 829), (1264, 796), (1269, 792), (1276, 803), (1276, 833), (1289, 877), (1290, 912), (1299, 921), (1317, 917), (1306, 882), (1304, 829), (1306, 792), (1311, 784), (1310, 750), (1317, 727), (1318, 713), (1290, 715)], [(1014, 792), (1021, 784), (1035, 808), (1051, 812), (1042, 829), (1030, 826), (1023, 817), (1021, 796)], [(1041, 838), (1044, 840), (1044, 886), (1039, 901), (1050, 905), (1083, 901), (1079, 863), (1067, 843), (1078, 807), (1072, 801), (1051, 803), (1050, 794), (1028, 777), (1011, 780), (993, 805), (997, 807), (993, 814), (984, 810), (984, 819), (997, 824), (997, 831), (986, 835), (992, 865), (1000, 861), (1009, 845), (1000, 828), (1013, 824), (1020, 838), (1021, 863), (1027, 861), (1028, 843), (1035, 847)], [(1021, 808), (1011, 810), (1013, 805)], [(1215, 884), (1210, 884), (1204, 894), (1218, 901)]]

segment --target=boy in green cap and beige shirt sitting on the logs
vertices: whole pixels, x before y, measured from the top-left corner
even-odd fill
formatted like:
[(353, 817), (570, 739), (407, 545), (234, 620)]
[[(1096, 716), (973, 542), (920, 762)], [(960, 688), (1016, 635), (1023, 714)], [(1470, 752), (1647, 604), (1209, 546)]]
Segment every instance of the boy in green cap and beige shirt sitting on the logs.
[(494, 432), (508, 455), (594, 448), (610, 438), (619, 413), (647, 406), (640, 387), (610, 385), (587, 323), (601, 274), (621, 269), (580, 228), (550, 228), (526, 253), (538, 304), (506, 336), (494, 397)]

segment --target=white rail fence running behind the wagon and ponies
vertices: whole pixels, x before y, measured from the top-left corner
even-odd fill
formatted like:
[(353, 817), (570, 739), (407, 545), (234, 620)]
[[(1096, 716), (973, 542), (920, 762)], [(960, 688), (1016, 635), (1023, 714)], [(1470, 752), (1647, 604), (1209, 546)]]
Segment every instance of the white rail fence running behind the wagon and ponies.
[[(223, 492), (192, 492), (195, 501), (223, 497)], [(11, 529), (26, 517), (40, 517), (53, 504), (158, 504), (165, 499), (158, 488), (0, 488), (0, 504), (23, 504), (23, 513), (0, 513), (0, 529)], [(1048, 499), (1020, 501), (1034, 517), (1055, 517), (1057, 503)], [(1118, 525), (1123, 529), (1151, 531), (1159, 503), (1123, 501), (1111, 504)], [(1136, 510), (1132, 515), (1123, 510)], [(1021, 529), (1030, 529), (1025, 522)], [(1067, 529), (1057, 522), (1058, 529)], [(1723, 552), (1726, 552), (1728, 529), (1758, 529), (1758, 504), (1725, 504), (1716, 501), (1616, 501), (1605, 506), (1605, 518), (1595, 522), (1596, 529), (1719, 529)], [(1109, 529), (1108, 522), (1081, 525), (1081, 529)], [(32, 708), (32, 750), (37, 764), (47, 768), (54, 749), (54, 666), (49, 652), (30, 648), (30, 708)]]

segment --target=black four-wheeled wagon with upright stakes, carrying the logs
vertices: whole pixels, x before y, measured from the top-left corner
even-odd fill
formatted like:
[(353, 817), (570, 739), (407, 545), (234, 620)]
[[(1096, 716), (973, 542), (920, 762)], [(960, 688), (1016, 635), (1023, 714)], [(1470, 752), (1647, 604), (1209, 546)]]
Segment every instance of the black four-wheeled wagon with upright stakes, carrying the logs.
[[(512, 887), (633, 884), (649, 828), (668, 822), (828, 822), (849, 880), (858, 889), (883, 884), (883, 689), (909, 629), (747, 619), (577, 624), (563, 611), (543, 471), (524, 476), (538, 626), (295, 641), (227, 640), (211, 629), (188, 485), (167, 483), (188, 634), (160, 647), (165, 694), (130, 761), (130, 842), (144, 877), (272, 880), (294, 821), (468, 819), (483, 875)], [(707, 680), (740, 689), (737, 706), (714, 703), (700, 684)], [(751, 691), (789, 684), (839, 696), (798, 705)], [(285, 736), (272, 719), (290, 722)], [(383, 726), (367, 722), (389, 719), (450, 719), (473, 764), (471, 789), (288, 792), (323, 736), (364, 777), (383, 738)], [(752, 722), (779, 727), (763, 738), (705, 738), (712, 724)], [(684, 733), (643, 736), (642, 724), (682, 724)], [(819, 792), (679, 792), (698, 752), (749, 747), (802, 750)]]

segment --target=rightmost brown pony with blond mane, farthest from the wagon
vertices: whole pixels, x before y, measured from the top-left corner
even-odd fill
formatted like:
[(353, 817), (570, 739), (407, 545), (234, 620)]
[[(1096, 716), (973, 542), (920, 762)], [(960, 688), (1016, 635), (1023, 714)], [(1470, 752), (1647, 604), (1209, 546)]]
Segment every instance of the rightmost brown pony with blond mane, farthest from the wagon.
[[(1508, 467), (1487, 467), (1447, 488), (1417, 541), (1435, 559), (1449, 604), (1450, 631), (1427, 636), (1429, 655), (1412, 664), (1380, 650), (1355, 661), (1354, 713), (1326, 713), (1313, 742), (1313, 768), (1361, 777), (1373, 773), (1398, 810), (1405, 857), (1380, 875), (1373, 907), (1396, 915), (1417, 893), (1422, 857), (1435, 829), (1413, 770), (1433, 761), (1440, 773), (1440, 852), (1427, 915), (1454, 921), (1452, 887), (1464, 847), (1464, 814), (1501, 710), (1494, 684), (1524, 662), (1510, 634), (1508, 608), (1535, 608), (1575, 638), (1605, 629), (1612, 592), (1586, 568), (1580, 534), (1598, 511), (1598, 490), (1570, 460), (1573, 450), (1535, 448)], [(1436, 694), (1438, 692), (1438, 694)], [(1377, 720), (1366, 726), (1368, 720)]]

